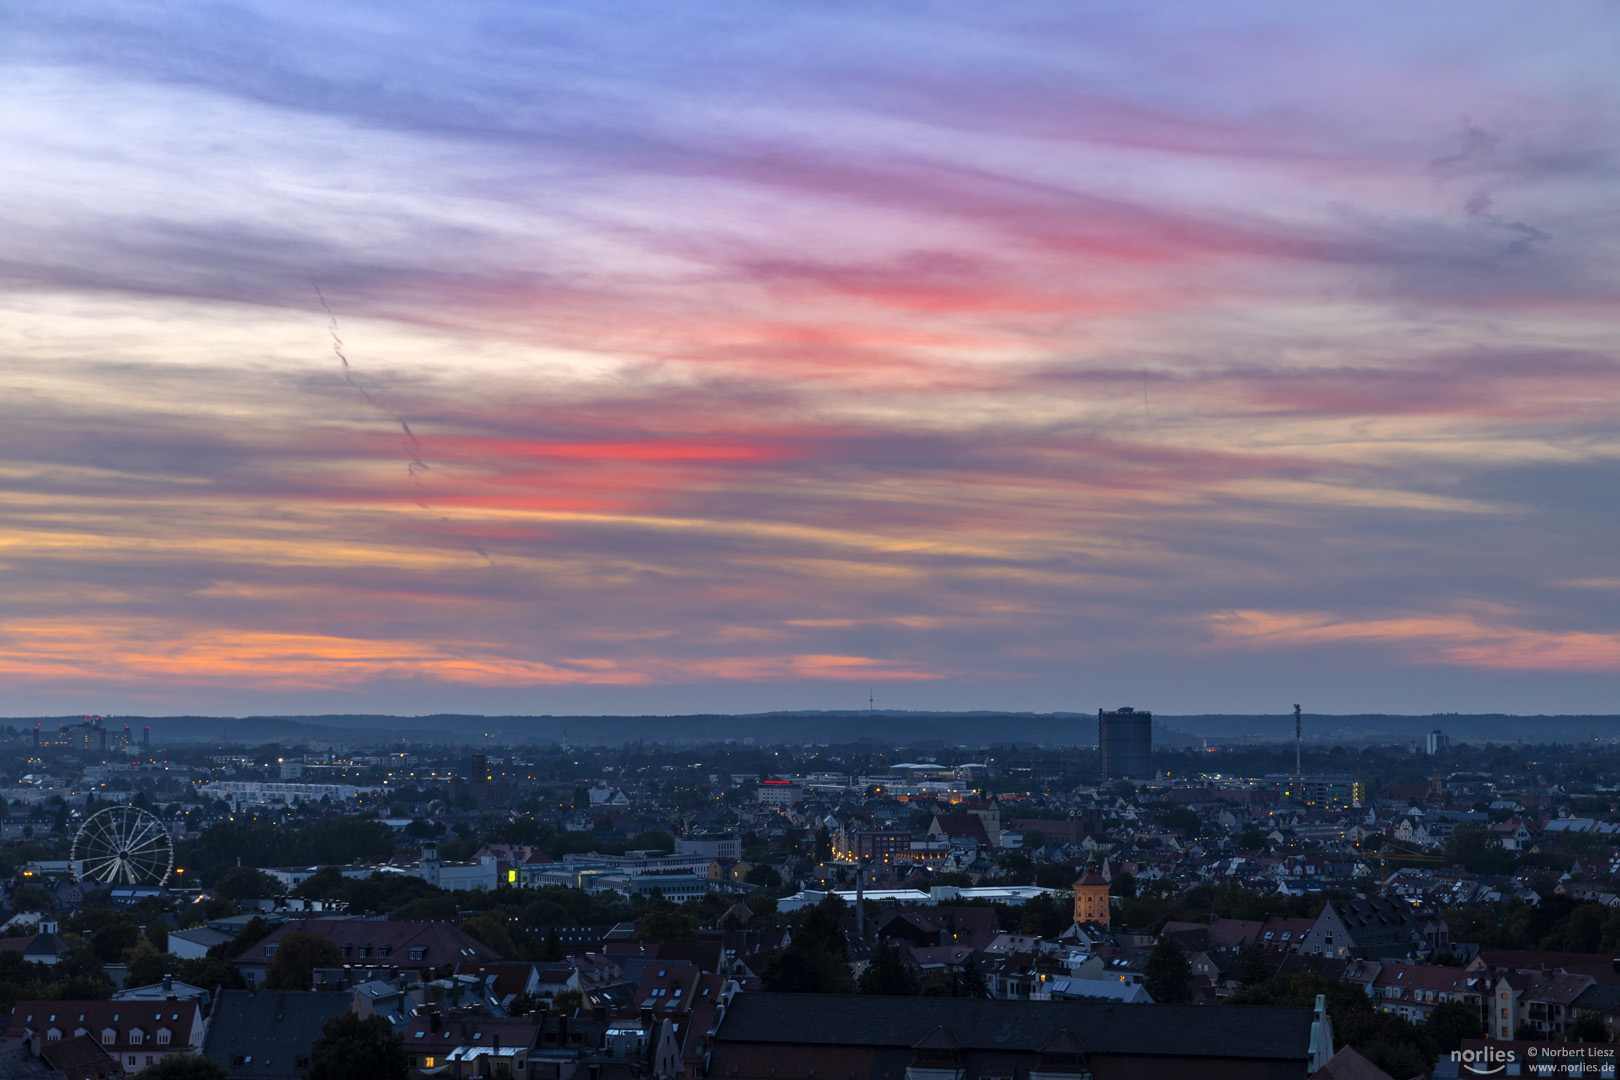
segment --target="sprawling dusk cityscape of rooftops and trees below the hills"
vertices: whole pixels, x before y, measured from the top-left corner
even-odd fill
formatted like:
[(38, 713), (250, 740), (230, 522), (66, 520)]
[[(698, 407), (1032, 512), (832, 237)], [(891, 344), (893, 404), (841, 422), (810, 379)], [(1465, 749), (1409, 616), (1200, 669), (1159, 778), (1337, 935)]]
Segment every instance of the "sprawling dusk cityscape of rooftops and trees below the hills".
[(1309, 719), (1168, 746), (1126, 706), (1064, 745), (5, 727), (5, 1075), (298, 1077), (377, 1038), (411, 1080), (1607, 1052), (1620, 745)]

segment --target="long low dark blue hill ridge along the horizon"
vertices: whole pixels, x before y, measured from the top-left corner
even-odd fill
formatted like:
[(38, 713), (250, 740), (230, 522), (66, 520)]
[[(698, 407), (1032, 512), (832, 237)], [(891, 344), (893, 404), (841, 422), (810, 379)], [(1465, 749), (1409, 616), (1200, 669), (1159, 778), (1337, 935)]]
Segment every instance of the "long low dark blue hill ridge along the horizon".
[[(18, 729), (78, 722), (78, 716), (18, 717)], [(1090, 712), (906, 712), (784, 711), (742, 716), (118, 716), (109, 725), (152, 725), (152, 740), (164, 743), (262, 745), (308, 740), (345, 745), (434, 742), (468, 745), (489, 742), (569, 743), (617, 746), (648, 743), (859, 743), (881, 742), (914, 746), (987, 746), (1025, 743), (1042, 746), (1090, 746), (1097, 743), (1097, 717)], [(1461, 742), (1586, 742), (1620, 735), (1620, 716), (1507, 716), (1507, 714), (1304, 714), (1309, 743), (1406, 742), (1434, 729)], [(1158, 746), (1291, 740), (1293, 714), (1200, 714), (1153, 717)]]

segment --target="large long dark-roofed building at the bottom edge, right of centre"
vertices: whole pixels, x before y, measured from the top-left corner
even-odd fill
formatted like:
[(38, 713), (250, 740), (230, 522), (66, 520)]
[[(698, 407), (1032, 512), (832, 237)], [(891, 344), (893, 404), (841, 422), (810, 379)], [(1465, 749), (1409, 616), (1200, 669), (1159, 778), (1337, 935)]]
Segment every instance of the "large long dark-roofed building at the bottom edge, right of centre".
[(1311, 1009), (1262, 1006), (739, 993), (719, 1017), (703, 1075), (1270, 1080), (1327, 1062), (1332, 1048), (1314, 1048), (1315, 1023)]

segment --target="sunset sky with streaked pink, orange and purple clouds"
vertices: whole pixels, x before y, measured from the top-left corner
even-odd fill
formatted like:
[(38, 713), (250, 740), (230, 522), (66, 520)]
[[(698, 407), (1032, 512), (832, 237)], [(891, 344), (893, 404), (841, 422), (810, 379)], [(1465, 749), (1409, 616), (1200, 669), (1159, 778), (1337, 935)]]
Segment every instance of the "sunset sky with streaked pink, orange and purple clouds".
[(0, 714), (1620, 712), (1610, 3), (0, 13)]

